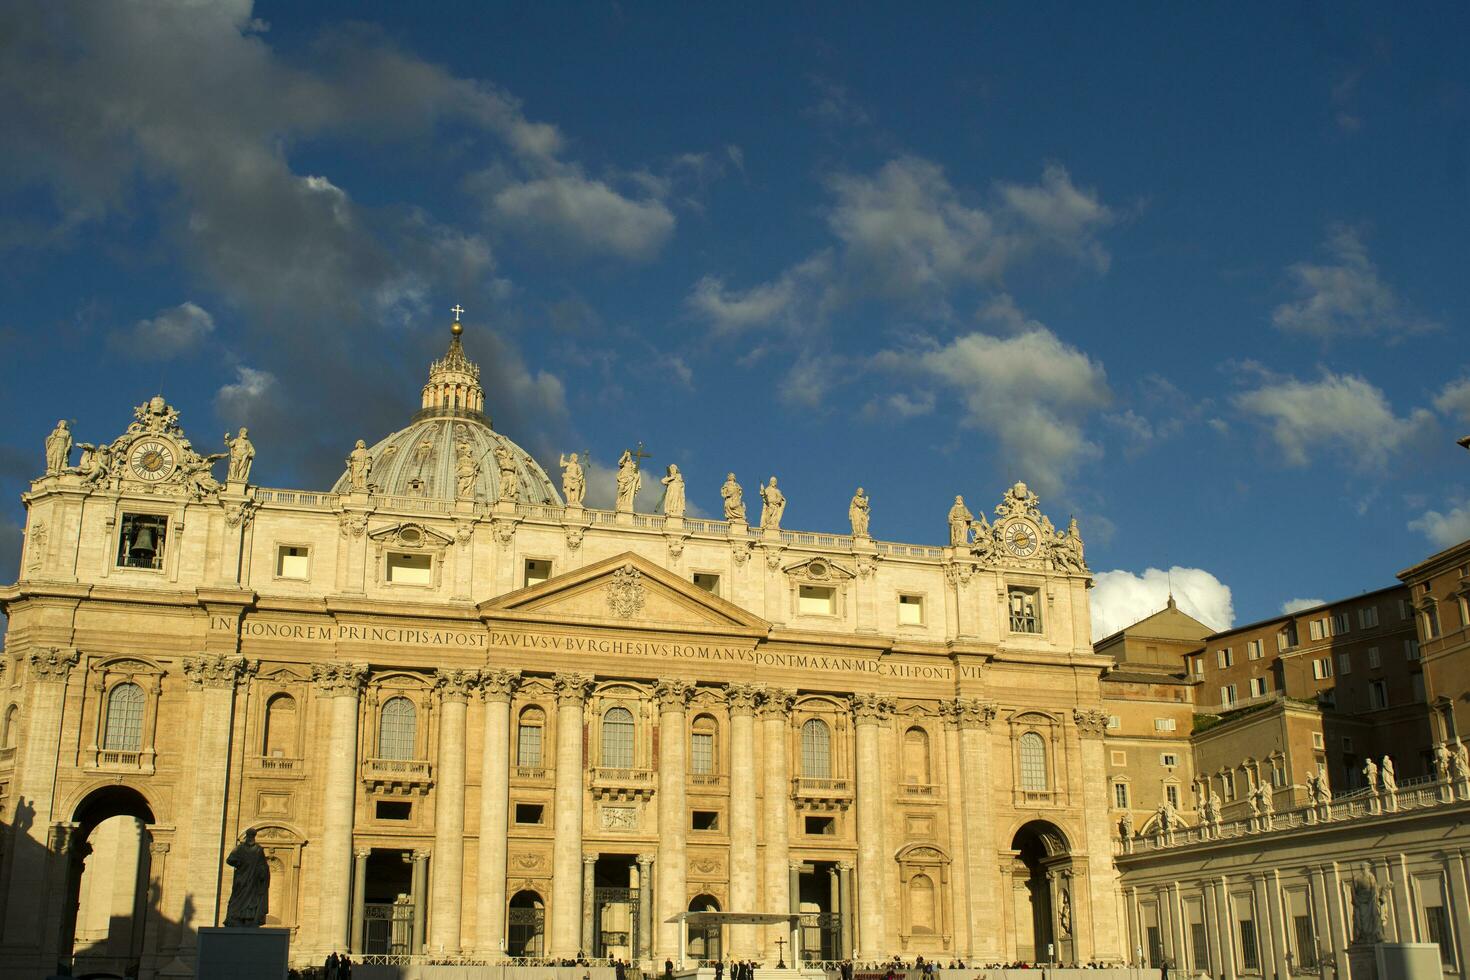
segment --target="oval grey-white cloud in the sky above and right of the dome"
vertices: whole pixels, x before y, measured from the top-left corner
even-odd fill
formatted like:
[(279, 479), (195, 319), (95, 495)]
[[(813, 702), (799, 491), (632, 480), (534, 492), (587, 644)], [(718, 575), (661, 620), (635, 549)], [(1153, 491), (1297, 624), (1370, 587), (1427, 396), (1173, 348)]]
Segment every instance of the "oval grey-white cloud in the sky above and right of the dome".
[(675, 226), (657, 197), (635, 200), (567, 167), (506, 184), (488, 207), (495, 222), (526, 238), (634, 260), (657, 253)]

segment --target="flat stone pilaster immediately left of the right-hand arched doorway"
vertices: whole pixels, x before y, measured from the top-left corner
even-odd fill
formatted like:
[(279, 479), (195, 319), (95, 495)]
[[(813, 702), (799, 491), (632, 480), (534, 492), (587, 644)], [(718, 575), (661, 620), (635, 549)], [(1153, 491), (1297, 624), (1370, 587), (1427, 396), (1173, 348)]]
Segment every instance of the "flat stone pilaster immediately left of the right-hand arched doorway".
[[(1000, 861), (995, 852), (991, 821), (991, 718), (995, 705), (972, 698), (956, 701), (956, 716), (960, 723), (960, 768), (964, 770), (964, 854), (966, 889), (970, 898), (969, 921), (998, 923), (1000, 901), (1010, 896), (1000, 893)], [(1095, 771), (1102, 771), (1095, 770)], [(1003, 955), (998, 930), (975, 929), (970, 956), (1000, 959)]]

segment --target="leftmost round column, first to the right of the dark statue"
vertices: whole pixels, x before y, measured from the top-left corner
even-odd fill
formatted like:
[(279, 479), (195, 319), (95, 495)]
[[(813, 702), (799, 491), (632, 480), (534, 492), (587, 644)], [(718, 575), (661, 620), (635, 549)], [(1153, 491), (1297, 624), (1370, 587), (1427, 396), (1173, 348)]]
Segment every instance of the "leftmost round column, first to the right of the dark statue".
[(328, 701), (326, 773), (322, 777), (322, 896), (316, 945), (320, 954), (347, 948), (353, 877), (353, 811), (357, 805), (357, 699), (366, 664), (312, 664), (312, 683)]

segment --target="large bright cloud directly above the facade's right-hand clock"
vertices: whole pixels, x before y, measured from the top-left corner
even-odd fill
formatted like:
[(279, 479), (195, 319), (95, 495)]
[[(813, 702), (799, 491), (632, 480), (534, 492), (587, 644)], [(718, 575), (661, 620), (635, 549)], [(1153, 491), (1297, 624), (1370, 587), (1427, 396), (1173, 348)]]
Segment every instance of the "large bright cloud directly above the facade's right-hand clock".
[(1107, 372), (1041, 325), (1013, 336), (976, 331), (873, 363), (947, 383), (964, 403), (964, 425), (992, 433), (1013, 472), (1041, 492), (1060, 489), (1100, 453), (1083, 425), (1111, 398)]

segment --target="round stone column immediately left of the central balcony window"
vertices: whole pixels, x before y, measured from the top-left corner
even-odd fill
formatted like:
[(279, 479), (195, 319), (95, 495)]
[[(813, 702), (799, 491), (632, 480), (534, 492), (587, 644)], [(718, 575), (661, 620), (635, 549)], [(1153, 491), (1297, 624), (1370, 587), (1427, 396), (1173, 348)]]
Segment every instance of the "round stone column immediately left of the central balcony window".
[(556, 843), (551, 852), (551, 948), (575, 958), (582, 929), (582, 705), (591, 674), (556, 676)]

